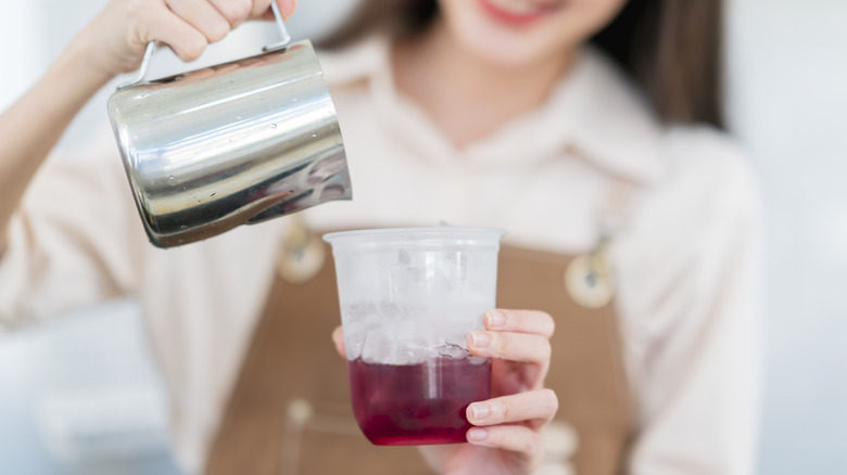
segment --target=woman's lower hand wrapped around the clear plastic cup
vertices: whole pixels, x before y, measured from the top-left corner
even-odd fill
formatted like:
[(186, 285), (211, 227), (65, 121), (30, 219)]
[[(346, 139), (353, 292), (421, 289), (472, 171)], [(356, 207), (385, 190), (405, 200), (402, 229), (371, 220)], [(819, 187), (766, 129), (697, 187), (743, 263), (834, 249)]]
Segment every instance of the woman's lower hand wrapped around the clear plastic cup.
[[(492, 399), (467, 409), (476, 427), (469, 444), (420, 447), (427, 462), (450, 475), (522, 475), (534, 472), (544, 454), (541, 429), (558, 409), (552, 389), (544, 388), (549, 369), (554, 323), (549, 314), (533, 310), (492, 310), (486, 331), (467, 336), (468, 349), (492, 358)], [(341, 329), (332, 337), (341, 355)]]

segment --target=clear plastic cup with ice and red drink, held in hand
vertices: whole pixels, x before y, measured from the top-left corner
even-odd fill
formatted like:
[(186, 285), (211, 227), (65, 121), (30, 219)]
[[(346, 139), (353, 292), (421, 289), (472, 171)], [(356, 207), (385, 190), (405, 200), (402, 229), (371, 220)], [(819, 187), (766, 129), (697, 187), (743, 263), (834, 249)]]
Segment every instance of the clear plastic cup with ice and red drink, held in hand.
[(491, 397), (491, 360), (465, 335), (494, 307), (498, 229), (331, 233), (353, 412), (375, 445), (464, 442)]

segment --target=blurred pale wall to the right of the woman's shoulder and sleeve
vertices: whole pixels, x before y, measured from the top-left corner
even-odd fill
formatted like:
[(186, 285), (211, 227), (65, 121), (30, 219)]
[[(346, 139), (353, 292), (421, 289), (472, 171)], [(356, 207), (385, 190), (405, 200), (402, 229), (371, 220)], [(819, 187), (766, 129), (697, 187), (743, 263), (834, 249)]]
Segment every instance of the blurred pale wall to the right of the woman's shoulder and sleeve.
[(732, 0), (731, 112), (764, 196), (763, 474), (847, 473), (847, 1)]

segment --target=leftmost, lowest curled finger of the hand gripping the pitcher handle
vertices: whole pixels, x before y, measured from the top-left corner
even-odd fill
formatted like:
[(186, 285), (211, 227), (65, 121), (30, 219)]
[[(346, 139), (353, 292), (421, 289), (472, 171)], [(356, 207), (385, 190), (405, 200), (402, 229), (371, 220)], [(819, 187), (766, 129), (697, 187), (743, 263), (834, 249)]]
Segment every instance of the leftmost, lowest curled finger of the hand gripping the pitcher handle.
[[(151, 3), (156, 5), (154, 2)], [(208, 44), (206, 37), (164, 5), (151, 7), (151, 11), (146, 14), (151, 18), (147, 22), (150, 30), (136, 31), (141, 44), (153, 40), (162, 41), (182, 61), (197, 60), (206, 49)]]

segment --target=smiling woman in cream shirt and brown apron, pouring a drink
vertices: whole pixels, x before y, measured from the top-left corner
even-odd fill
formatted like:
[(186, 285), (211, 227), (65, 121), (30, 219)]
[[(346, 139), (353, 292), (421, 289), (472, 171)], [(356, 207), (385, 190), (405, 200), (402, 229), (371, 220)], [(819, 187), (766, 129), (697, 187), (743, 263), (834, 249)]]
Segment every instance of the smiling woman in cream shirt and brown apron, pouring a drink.
[[(715, 128), (718, 2), (365, 2), (321, 55), (355, 200), (298, 219), (163, 253), (144, 242), (114, 157), (48, 165), (30, 184), (81, 104), (137, 67), (148, 41), (190, 60), (268, 3), (113, 0), (0, 118), (0, 319), (138, 293), (192, 471), (321, 473), (337, 459), (345, 473), (379, 473), (380, 460), (384, 473), (417, 473), (406, 452), (330, 457), (353, 447), (338, 400), (321, 399), (343, 374), (301, 374), (302, 360), (324, 361), (303, 342), (326, 329), (273, 318), (337, 311), (316, 307), (327, 266), (289, 270), (321, 252), (311, 243), (328, 229), (506, 228), (498, 304), (544, 311), (488, 316), (470, 348), (501, 358), (503, 398), (469, 408), (488, 428), (428, 448), (430, 465), (751, 473), (758, 210), (743, 159)], [(551, 358), (560, 410), (542, 439), (556, 406), (542, 389)]]

